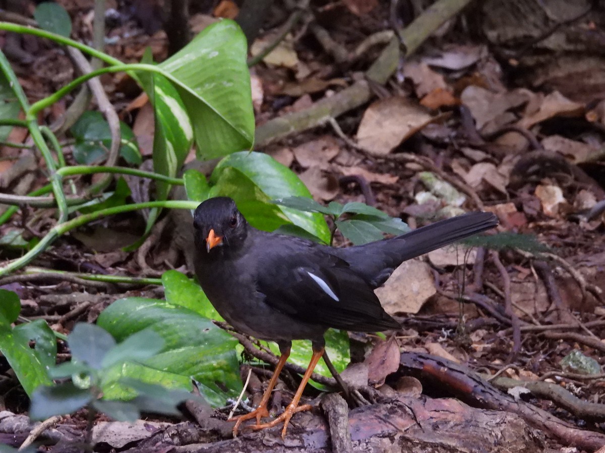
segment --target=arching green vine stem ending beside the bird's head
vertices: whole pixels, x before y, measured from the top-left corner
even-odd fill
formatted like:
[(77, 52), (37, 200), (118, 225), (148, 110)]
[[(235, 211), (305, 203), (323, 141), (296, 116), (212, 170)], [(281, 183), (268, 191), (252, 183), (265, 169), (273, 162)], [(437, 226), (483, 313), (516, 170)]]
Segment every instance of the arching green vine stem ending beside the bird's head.
[(77, 228), (78, 226), (85, 225), (86, 223), (94, 222), (101, 217), (113, 216), (114, 214), (126, 213), (129, 211), (136, 211), (139, 209), (146, 208), (169, 208), (169, 209), (189, 209), (194, 210), (197, 208), (199, 202), (196, 201), (149, 201), (145, 203), (136, 203), (131, 205), (116, 206), (113, 208), (107, 208), (100, 211), (96, 211), (90, 214), (83, 214), (82, 216), (76, 217), (75, 219), (68, 220), (67, 222), (57, 223), (53, 228), (48, 231), (40, 242), (38, 242), (30, 251), (28, 251), (22, 257), (9, 262), (7, 265), (0, 268), (0, 277), (6, 275), (9, 272), (16, 271), (19, 268), (30, 263), (39, 254), (41, 254), (51, 243), (54, 242), (59, 236), (67, 233), (68, 231)]

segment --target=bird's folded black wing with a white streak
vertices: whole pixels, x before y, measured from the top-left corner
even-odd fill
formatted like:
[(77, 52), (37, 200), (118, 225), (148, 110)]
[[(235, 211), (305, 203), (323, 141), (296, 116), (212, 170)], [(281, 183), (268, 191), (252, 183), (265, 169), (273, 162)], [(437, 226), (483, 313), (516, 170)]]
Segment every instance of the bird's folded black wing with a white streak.
[(336, 329), (396, 329), (368, 284), (329, 249), (294, 243), (263, 253), (257, 289), (265, 303), (296, 320)]

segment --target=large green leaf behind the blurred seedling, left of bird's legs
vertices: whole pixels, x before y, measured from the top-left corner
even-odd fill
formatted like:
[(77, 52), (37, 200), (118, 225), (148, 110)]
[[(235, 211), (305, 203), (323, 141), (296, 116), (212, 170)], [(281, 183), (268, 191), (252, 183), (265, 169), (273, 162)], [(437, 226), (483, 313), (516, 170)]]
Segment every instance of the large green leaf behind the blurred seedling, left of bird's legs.
[[(213, 405), (223, 405), (227, 397), (237, 396), (241, 390), (235, 354), (237, 340), (192, 310), (163, 300), (131, 297), (107, 307), (97, 324), (117, 341), (148, 327), (165, 341), (162, 352), (142, 362), (145, 366), (114, 370), (122, 377), (164, 385), (172, 382), (174, 387), (186, 390), (192, 377), (200, 382), (201, 394)], [(108, 376), (104, 380), (115, 381)], [(106, 398), (132, 396), (115, 382), (112, 388), (103, 391)]]

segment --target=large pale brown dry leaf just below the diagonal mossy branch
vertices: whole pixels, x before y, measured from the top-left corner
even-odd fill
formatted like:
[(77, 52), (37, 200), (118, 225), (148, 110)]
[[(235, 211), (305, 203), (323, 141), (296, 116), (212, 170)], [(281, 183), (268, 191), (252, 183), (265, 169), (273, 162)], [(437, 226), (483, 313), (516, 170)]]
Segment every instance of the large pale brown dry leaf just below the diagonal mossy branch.
[(381, 99), (364, 112), (357, 141), (371, 152), (388, 154), (432, 120), (424, 107), (407, 98)]

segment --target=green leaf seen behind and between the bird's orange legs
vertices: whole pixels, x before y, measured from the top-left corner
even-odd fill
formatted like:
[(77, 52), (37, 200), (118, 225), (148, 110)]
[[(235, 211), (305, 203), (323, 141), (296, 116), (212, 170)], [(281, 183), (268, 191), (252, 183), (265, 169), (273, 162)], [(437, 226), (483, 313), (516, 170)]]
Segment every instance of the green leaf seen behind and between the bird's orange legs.
[[(350, 346), (348, 341), (348, 333), (345, 330), (336, 330), (336, 329), (328, 329), (325, 332), (325, 350), (328, 353), (332, 364), (336, 368), (336, 371), (339, 373), (344, 370), (349, 362), (351, 361), (350, 355)], [(280, 348), (278, 345), (269, 341), (269, 348), (276, 355), (280, 355)], [(308, 340), (295, 340), (292, 342), (292, 349), (290, 349), (290, 357), (288, 361), (299, 365), (302, 368), (307, 368), (309, 366), (309, 362), (311, 361), (311, 356), (313, 355), (313, 349), (311, 347), (311, 342)], [(327, 366), (325, 366), (325, 362), (320, 360), (315, 367), (315, 372), (321, 374), (322, 376), (332, 376), (330, 370)], [(324, 388), (323, 385), (318, 384), (317, 382), (312, 382), (313, 387), (322, 390)]]

